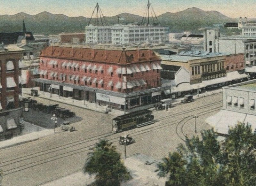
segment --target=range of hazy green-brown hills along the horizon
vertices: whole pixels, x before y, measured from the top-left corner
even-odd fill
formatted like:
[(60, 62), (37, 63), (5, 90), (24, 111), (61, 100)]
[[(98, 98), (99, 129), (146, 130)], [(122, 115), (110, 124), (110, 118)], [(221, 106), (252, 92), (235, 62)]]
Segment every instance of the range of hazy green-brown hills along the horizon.
[[(121, 13), (112, 17), (104, 17), (108, 25), (119, 23), (128, 24), (132, 22), (141, 23), (142, 17), (130, 13)], [(166, 12), (159, 15), (158, 21), (161, 26), (169, 26), (171, 32), (180, 32), (184, 30), (197, 30), (200, 27), (212, 26), (212, 24), (236, 22), (238, 19), (229, 18), (217, 11), (204, 11), (199, 8), (188, 8), (181, 12)], [(41, 12), (36, 15), (29, 15), (24, 12), (15, 15), (0, 15), (0, 32), (17, 32), (22, 29), (22, 19), (25, 20), (26, 28), (34, 34), (58, 34), (70, 32), (84, 32), (90, 18), (83, 16), (68, 17), (63, 14), (52, 14)], [(154, 18), (156, 21), (156, 19)], [(102, 21), (104, 21), (102, 19)], [(152, 21), (152, 18), (150, 18)], [(99, 19), (101, 23), (101, 20)], [(92, 24), (95, 19), (92, 19)]]

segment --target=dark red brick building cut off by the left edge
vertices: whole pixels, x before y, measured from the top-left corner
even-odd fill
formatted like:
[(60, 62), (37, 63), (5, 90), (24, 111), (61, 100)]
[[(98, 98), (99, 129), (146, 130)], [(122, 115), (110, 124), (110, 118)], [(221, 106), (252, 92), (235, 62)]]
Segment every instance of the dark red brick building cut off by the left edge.
[(16, 45), (0, 45), (0, 138), (4, 135), (19, 133), (20, 86), (22, 83), (20, 59), (23, 49)]

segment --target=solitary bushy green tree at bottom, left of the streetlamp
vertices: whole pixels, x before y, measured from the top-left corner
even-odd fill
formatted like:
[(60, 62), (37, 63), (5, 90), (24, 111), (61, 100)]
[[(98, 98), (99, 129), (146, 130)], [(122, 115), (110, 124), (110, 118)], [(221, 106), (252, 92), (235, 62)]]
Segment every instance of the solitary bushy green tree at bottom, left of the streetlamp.
[(84, 173), (96, 174), (95, 185), (119, 186), (120, 182), (131, 178), (116, 147), (108, 140), (100, 140), (91, 150), (84, 164)]

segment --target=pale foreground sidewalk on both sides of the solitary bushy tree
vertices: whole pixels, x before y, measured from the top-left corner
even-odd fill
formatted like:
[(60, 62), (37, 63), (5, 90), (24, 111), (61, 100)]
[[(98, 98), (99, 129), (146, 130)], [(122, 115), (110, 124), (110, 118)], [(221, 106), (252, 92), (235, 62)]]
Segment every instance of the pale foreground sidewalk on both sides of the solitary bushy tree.
[[(152, 163), (146, 165), (146, 161)], [(124, 159), (124, 166), (128, 169), (132, 175), (132, 180), (121, 183), (121, 186), (134, 186), (134, 185), (148, 185), (152, 186), (158, 184), (159, 186), (165, 185), (165, 178), (159, 178), (156, 170), (157, 160), (152, 159), (149, 156), (143, 154), (135, 154)], [(85, 186), (91, 184), (94, 181), (94, 176), (83, 174), (80, 172), (70, 174), (66, 177), (62, 177), (58, 180), (45, 183), (41, 186)]]

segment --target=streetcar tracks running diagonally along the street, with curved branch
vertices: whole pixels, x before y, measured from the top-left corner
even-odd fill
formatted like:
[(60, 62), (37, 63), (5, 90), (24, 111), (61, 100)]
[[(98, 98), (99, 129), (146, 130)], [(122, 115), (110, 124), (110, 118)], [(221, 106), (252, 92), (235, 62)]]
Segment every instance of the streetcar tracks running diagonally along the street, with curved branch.
[[(164, 121), (164, 120), (168, 120), (170, 118), (174, 119), (175, 117), (178, 117), (182, 114), (189, 114), (191, 112), (196, 112), (198, 110), (214, 106), (214, 108), (212, 108), (210, 110), (208, 109), (203, 112), (196, 112), (196, 114), (199, 116), (204, 115), (204, 114), (207, 114), (207, 113), (210, 113), (210, 112), (220, 109), (221, 106), (219, 106), (218, 104), (220, 104), (221, 102), (222, 101), (217, 101), (214, 104), (206, 104), (206, 105), (191, 109), (186, 112), (177, 112), (177, 113), (171, 114), (169, 116), (164, 116), (164, 117), (158, 118), (157, 121)], [(182, 123), (181, 121), (184, 121), (184, 120), (186, 120), (186, 118), (189, 118), (193, 115), (194, 115), (194, 113), (190, 114), (189, 116), (183, 117), (181, 119), (175, 119), (175, 120), (167, 121), (167, 122), (163, 122), (163, 123), (155, 123), (150, 126), (140, 128), (139, 131), (131, 130), (129, 133), (131, 136), (138, 136), (141, 134), (145, 134), (145, 133), (157, 130), (159, 128), (164, 128), (164, 127), (168, 127), (168, 126), (177, 124), (176, 134), (180, 137), (180, 139), (182, 139), (184, 141), (185, 135), (182, 131), (182, 128), (186, 124), (186, 122)], [(180, 126), (181, 126), (181, 128), (179, 129)], [(22, 170), (25, 170), (25, 169), (28, 169), (31, 167), (35, 167), (35, 166), (38, 166), (38, 165), (41, 165), (44, 163), (48, 163), (51, 161), (56, 161), (58, 159), (72, 156), (72, 155), (75, 155), (78, 153), (89, 152), (90, 148), (93, 147), (94, 144), (99, 139), (102, 139), (102, 138), (108, 138), (108, 140), (110, 142), (117, 142), (119, 140), (119, 135), (118, 134), (114, 135), (112, 133), (106, 133), (106, 134), (103, 134), (100, 136), (86, 138), (83, 140), (79, 140), (76, 142), (72, 142), (72, 143), (61, 145), (61, 146), (58, 146), (55, 148), (51, 148), (51, 149), (48, 149), (45, 151), (31, 153), (26, 156), (22, 156), (19, 158), (0, 162), (0, 167), (2, 168), (2, 170), (4, 172), (4, 175), (13, 174), (13, 173), (16, 173), (16, 172), (19, 172), (19, 171), (22, 171)]]

